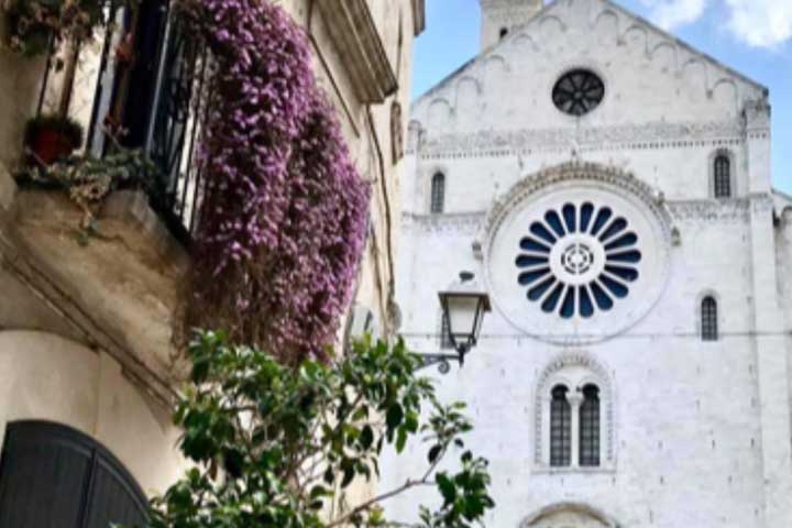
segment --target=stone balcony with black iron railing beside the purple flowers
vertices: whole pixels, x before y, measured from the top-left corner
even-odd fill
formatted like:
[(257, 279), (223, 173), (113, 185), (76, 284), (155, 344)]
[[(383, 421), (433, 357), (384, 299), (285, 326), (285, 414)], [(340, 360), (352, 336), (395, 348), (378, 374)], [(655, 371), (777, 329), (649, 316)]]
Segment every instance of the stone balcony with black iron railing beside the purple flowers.
[[(86, 211), (63, 189), (25, 170), (12, 184), (0, 170), (0, 251), (4, 272), (65, 321), (68, 332), (106, 350), (130, 377), (168, 399), (184, 373), (173, 334), (204, 189), (196, 151), (210, 57), (188, 40), (167, 3), (135, 6), (108, 6), (113, 23), (94, 45), (66, 50), (67, 58), (76, 58), (72, 65), (64, 67), (63, 48), (38, 59), (0, 55), (1, 70), (36, 80), (0, 80), (0, 105), (19, 107), (19, 122), (0, 127), (0, 138), (19, 138), (23, 113), (65, 110), (85, 130), (75, 154), (102, 160), (119, 147), (140, 152), (156, 177), (122, 183), (95, 207), (97, 221), (87, 230)], [(19, 153), (28, 166), (41, 161), (31, 162), (21, 145)], [(33, 319), (20, 321), (30, 326)]]

